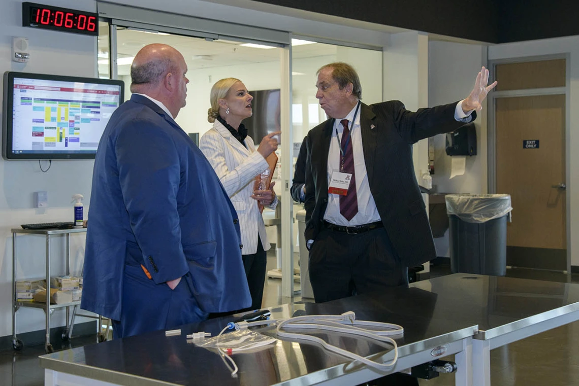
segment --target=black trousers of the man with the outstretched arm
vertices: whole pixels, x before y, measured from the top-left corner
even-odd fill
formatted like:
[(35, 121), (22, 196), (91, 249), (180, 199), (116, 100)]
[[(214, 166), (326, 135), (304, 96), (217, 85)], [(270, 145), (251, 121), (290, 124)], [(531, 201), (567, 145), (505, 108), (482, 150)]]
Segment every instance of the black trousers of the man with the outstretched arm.
[(357, 235), (323, 228), (310, 248), (309, 272), (316, 303), (408, 284), (408, 267), (384, 228)]

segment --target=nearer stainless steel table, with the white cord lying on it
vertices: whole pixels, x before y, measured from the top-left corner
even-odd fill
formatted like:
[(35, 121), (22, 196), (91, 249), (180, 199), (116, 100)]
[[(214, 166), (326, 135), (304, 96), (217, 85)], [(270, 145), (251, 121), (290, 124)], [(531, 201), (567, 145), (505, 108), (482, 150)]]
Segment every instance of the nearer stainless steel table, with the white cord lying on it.
[[(477, 325), (453, 318), (434, 318), (438, 295), (421, 288), (393, 288), (383, 294), (356, 296), (324, 304), (289, 304), (271, 309), (272, 317), (297, 314), (339, 314), (354, 311), (360, 320), (393, 322), (404, 326), (398, 362), (392, 372), (456, 354), (456, 385), (472, 385), (472, 336)], [(43, 355), (45, 385), (356, 385), (384, 374), (324, 351), (313, 344), (278, 341), (265, 350), (233, 355), (239, 377), (232, 378), (222, 359), (212, 351), (186, 342), (185, 335), (217, 334), (230, 318), (182, 327), (180, 336), (163, 331), (112, 340)], [(263, 329), (264, 333), (273, 333)], [(393, 352), (364, 339), (318, 335), (329, 342), (384, 362)], [(349, 364), (350, 363), (350, 364)]]

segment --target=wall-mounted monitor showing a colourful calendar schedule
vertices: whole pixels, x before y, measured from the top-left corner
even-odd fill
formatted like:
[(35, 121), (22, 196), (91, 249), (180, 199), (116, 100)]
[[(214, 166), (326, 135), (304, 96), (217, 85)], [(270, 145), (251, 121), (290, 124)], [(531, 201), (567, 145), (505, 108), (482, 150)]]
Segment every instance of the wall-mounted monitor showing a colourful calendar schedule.
[(3, 92), (4, 159), (91, 159), (124, 83), (7, 71)]

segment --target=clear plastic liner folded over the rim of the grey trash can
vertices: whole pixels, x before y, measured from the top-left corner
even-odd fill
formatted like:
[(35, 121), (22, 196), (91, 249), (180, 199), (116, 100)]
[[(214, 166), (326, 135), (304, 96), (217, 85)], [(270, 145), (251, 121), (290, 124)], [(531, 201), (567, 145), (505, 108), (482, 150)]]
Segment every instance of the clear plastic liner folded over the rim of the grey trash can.
[(448, 194), (446, 213), (466, 222), (487, 222), (509, 215), (512, 210), (508, 194)]

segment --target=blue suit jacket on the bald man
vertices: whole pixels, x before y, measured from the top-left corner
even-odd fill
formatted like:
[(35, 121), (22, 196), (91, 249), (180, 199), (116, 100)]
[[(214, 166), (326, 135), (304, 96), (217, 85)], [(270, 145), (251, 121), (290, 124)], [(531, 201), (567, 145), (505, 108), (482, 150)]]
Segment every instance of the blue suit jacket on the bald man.
[(203, 153), (163, 109), (131, 96), (98, 145), (81, 307), (120, 320), (127, 262), (156, 284), (186, 275), (179, 285), (205, 312), (243, 309), (241, 247), (236, 211)]

